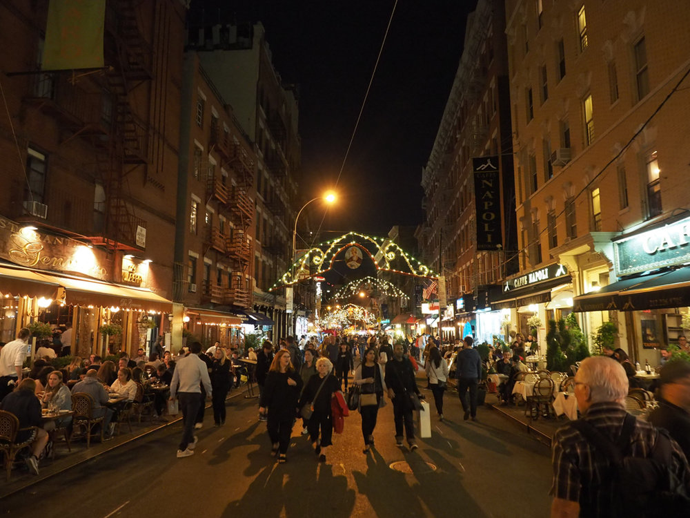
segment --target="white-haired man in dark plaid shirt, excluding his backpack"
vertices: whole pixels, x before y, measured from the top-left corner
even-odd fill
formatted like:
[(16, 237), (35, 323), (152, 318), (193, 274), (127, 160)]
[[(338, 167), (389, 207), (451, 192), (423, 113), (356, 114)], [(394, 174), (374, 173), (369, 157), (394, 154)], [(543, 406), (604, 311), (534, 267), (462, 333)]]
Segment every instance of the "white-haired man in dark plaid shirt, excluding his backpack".
[[(671, 460), (664, 468), (669, 468), (688, 487), (690, 468), (678, 443), (667, 439), (665, 432), (650, 423), (629, 416), (623, 405), (627, 393), (628, 377), (617, 361), (592, 356), (580, 363), (575, 374), (575, 399), (582, 418), (559, 428), (553, 435), (552, 518), (611, 517), (622, 499), (633, 496), (622, 495), (620, 488), (616, 490), (611, 461), (607, 452), (602, 452), (586, 437), (591, 432), (598, 432), (604, 441), (621, 442), (622, 456), (647, 458), (653, 455), (658, 444), (670, 444)], [(580, 430), (591, 431), (585, 434)]]

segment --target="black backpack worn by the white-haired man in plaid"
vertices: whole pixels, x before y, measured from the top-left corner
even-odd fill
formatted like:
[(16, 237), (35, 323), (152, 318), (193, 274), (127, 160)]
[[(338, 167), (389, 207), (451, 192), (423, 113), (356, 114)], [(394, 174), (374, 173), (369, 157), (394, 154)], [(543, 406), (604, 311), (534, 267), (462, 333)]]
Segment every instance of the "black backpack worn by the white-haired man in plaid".
[(595, 450), (609, 459), (609, 472), (604, 474), (613, 483), (611, 518), (652, 518), (688, 516), (690, 499), (687, 490), (673, 472), (671, 438), (666, 430), (657, 430), (654, 448), (649, 457), (630, 454), (635, 417), (626, 414), (616, 443), (583, 419), (571, 423), (594, 445)]

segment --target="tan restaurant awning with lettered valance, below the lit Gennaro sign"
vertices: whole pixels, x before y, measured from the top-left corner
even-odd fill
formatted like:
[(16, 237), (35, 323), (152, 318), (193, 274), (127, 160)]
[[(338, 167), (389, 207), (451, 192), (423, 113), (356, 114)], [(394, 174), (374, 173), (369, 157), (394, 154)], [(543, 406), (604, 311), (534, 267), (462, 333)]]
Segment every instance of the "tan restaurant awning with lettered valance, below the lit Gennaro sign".
[(63, 288), (63, 300), (68, 305), (103, 306), (170, 313), (172, 302), (145, 288), (122, 286), (99, 280), (41, 274)]

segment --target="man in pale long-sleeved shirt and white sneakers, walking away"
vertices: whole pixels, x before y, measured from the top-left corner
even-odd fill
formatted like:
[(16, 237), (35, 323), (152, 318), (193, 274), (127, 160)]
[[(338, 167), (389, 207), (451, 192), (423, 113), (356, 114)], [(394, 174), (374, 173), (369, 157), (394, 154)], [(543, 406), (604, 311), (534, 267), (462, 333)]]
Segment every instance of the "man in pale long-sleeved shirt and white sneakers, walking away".
[(177, 458), (189, 457), (194, 454), (194, 448), (199, 438), (194, 434), (194, 423), (199, 412), (201, 400), (201, 385), (204, 385), (207, 395), (213, 394), (211, 381), (208, 376), (206, 363), (199, 358), (201, 344), (193, 342), (184, 358), (175, 363), (175, 372), (170, 382), (170, 401), (179, 399), (182, 410), (183, 432), (182, 440), (177, 448)]

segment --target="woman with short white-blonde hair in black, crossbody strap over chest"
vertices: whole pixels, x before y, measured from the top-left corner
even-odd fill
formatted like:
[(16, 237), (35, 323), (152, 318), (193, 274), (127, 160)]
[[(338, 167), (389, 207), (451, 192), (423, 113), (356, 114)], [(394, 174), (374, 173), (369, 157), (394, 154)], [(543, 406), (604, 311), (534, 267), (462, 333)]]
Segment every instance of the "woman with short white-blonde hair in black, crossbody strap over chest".
[[(331, 413), (331, 398), (340, 390), (340, 383), (331, 372), (333, 363), (328, 358), (319, 358), (316, 361), (316, 371), (309, 379), (298, 407), (311, 404), (312, 414), (307, 423), (309, 439), (314, 452), (319, 456), (319, 461), (326, 461), (326, 450), (332, 444), (333, 439), (333, 414)], [(319, 430), (321, 439), (319, 441)]]

